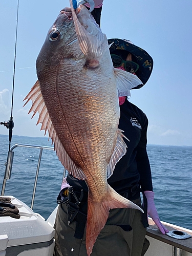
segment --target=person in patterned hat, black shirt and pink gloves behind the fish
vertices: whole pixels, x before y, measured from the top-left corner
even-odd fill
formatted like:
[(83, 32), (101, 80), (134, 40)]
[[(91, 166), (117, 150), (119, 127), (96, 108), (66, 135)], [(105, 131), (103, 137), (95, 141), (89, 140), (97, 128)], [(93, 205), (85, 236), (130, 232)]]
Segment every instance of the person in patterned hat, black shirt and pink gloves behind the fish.
[[(95, 8), (92, 15), (100, 26), (103, 1), (98, 2), (99, 6), (96, 7), (99, 8)], [(112, 38), (108, 42), (111, 45), (110, 53), (114, 68), (136, 75), (141, 82), (132, 89), (141, 88), (152, 73), (152, 57), (129, 40)], [(168, 232), (160, 222), (154, 203), (151, 168), (146, 152), (147, 117), (126, 96), (119, 97), (119, 107), (119, 129), (130, 141), (124, 139), (127, 145), (126, 153), (117, 162), (113, 175), (108, 178), (108, 184), (118, 194), (140, 207), (142, 192), (144, 214), (132, 208), (111, 209), (106, 224), (94, 243), (92, 256), (144, 255), (149, 246), (145, 238), (148, 215), (163, 234)], [(88, 253), (85, 232), (88, 192), (86, 182), (74, 178), (73, 175), (68, 175), (67, 179), (63, 180), (57, 198), (60, 207), (54, 226), (55, 256), (84, 256)]]

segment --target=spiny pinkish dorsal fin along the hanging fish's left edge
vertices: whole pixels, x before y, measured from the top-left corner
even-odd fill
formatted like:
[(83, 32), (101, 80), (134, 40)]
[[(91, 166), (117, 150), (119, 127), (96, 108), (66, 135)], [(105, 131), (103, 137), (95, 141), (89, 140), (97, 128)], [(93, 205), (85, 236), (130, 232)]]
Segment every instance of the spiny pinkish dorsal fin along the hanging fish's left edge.
[(85, 179), (86, 176), (83, 174), (82, 170), (70, 158), (70, 156), (66, 152), (65, 148), (63, 147), (62, 143), (60, 142), (54, 130), (54, 126), (49, 116), (45, 101), (42, 98), (39, 80), (36, 81), (34, 86), (31, 88), (31, 91), (28, 93), (28, 95), (25, 97), (24, 100), (27, 100), (24, 106), (30, 100), (32, 100), (32, 106), (28, 114), (31, 112), (34, 112), (33, 113), (33, 116), (34, 116), (37, 112), (39, 113), (37, 124), (41, 123), (40, 130), (45, 130), (45, 134), (48, 131), (49, 138), (51, 138), (52, 142), (54, 142), (54, 148), (56, 150), (56, 154), (59, 160), (61, 161), (62, 165), (65, 166), (68, 172), (72, 174), (75, 178), (82, 179), (82, 180)]

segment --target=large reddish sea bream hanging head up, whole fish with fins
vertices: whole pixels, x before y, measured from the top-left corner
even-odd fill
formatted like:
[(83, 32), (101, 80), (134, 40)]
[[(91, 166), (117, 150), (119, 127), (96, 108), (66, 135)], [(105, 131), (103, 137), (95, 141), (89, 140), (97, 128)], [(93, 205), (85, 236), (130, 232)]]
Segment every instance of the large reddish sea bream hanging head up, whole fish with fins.
[(113, 68), (105, 34), (86, 7), (74, 11), (70, 4), (47, 34), (36, 61), (38, 80), (25, 100), (32, 100), (30, 112), (39, 113), (37, 123), (48, 130), (63, 166), (89, 187), (90, 255), (110, 209), (140, 209), (117, 194), (107, 179), (126, 152), (118, 130), (118, 96), (128, 95), (141, 81)]

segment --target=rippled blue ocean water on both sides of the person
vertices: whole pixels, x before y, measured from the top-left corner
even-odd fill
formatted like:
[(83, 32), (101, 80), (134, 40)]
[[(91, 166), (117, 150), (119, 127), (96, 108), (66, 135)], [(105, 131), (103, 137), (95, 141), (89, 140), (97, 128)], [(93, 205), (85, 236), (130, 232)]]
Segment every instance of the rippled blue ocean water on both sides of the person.
[[(2, 187), (8, 152), (8, 136), (0, 135), (0, 188)], [(48, 138), (13, 136), (17, 143), (52, 146)], [(147, 145), (151, 163), (155, 204), (162, 221), (192, 229), (192, 147)], [(39, 150), (17, 147), (11, 179), (5, 195), (12, 195), (31, 205)], [(44, 150), (40, 163), (33, 210), (45, 219), (57, 206), (63, 166), (56, 153)]]

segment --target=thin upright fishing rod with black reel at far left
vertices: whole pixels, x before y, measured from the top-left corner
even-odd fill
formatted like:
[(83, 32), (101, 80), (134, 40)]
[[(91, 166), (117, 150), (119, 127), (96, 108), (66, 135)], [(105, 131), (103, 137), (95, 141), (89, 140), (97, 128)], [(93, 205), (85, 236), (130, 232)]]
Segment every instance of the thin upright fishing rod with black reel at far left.
[(15, 65), (16, 65), (16, 47), (17, 47), (17, 29), (18, 29), (18, 6), (19, 0), (17, 1), (17, 19), (16, 19), (16, 34), (15, 34), (15, 53), (14, 53), (14, 67), (13, 67), (13, 85), (12, 85), (12, 100), (11, 100), (11, 117), (9, 121), (1, 122), (7, 129), (9, 129), (9, 152), (11, 149), (11, 139), (13, 134), (13, 95), (14, 95), (14, 84), (15, 84)]

